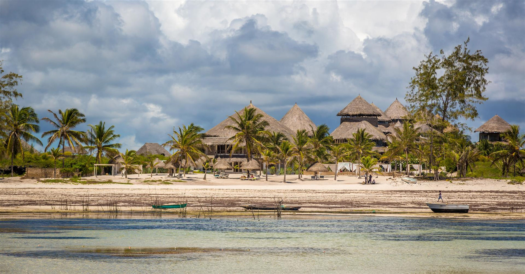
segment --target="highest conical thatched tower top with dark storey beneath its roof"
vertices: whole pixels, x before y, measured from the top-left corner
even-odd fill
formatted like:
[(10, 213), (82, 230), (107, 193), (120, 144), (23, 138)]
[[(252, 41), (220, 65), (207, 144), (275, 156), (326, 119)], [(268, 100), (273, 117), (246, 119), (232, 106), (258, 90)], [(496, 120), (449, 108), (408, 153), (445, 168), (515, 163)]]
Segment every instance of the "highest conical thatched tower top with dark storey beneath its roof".
[(346, 105), (344, 109), (339, 111), (337, 115), (341, 116), (341, 123), (367, 121), (374, 127), (377, 127), (377, 117), (381, 116), (381, 112), (377, 111), (359, 95)]

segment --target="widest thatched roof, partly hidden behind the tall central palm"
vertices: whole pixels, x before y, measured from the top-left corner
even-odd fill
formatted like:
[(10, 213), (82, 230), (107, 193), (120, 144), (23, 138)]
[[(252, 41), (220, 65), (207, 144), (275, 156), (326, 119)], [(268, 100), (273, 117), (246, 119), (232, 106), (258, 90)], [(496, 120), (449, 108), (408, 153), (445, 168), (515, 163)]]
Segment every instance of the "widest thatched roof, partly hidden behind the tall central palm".
[[(266, 130), (269, 131), (275, 131), (275, 132), (281, 132), (287, 136), (295, 135), (286, 125), (281, 124), (281, 122), (277, 121), (275, 118), (268, 115), (266, 112), (260, 110), (259, 108), (255, 107), (251, 102), (248, 106), (246, 106), (247, 109), (255, 108), (256, 113), (261, 113), (263, 115), (262, 120), (266, 120), (268, 122), (268, 127), (266, 127)], [(244, 109), (238, 111), (239, 114), (243, 114)], [(232, 114), (234, 118), (237, 118), (237, 114)], [(230, 116), (230, 117), (232, 117)], [(232, 129), (225, 129), (227, 125), (235, 125), (234, 121), (230, 119), (230, 117), (226, 118), (224, 121), (217, 124), (215, 127), (209, 129), (206, 131), (206, 136), (216, 136), (216, 137), (232, 137), (235, 135), (235, 131)]]

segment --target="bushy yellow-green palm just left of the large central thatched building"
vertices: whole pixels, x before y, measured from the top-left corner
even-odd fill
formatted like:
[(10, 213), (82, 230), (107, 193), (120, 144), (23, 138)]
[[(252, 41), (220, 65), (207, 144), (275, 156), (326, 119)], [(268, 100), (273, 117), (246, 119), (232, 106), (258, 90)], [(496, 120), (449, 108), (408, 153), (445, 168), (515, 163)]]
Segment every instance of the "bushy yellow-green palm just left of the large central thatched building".
[[(191, 123), (186, 127), (182, 125), (178, 127), (178, 132), (173, 130), (173, 135), (170, 135), (171, 140), (165, 142), (164, 146), (170, 146), (170, 151), (174, 151), (170, 156), (169, 161), (175, 163), (184, 160), (184, 167), (190, 164), (196, 165), (195, 161), (205, 157), (205, 144), (202, 142), (202, 133), (204, 129)], [(181, 178), (181, 165), (178, 166), (178, 179)]]

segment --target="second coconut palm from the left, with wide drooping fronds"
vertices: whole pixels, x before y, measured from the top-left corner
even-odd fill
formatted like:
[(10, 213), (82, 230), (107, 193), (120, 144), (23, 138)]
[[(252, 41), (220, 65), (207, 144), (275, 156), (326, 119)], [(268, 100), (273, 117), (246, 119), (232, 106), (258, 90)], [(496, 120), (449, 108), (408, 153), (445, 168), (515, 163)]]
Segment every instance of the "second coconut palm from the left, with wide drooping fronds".
[[(82, 114), (78, 109), (66, 109), (65, 111), (58, 110), (58, 115), (51, 111), (55, 117), (55, 121), (44, 117), (42, 120), (49, 122), (55, 130), (46, 131), (42, 134), (42, 137), (49, 135), (47, 139), (47, 145), (44, 151), (47, 151), (51, 143), (58, 140), (58, 146), (62, 145), (62, 153), (65, 153), (66, 142), (71, 146), (73, 152), (76, 152), (75, 145), (77, 147), (82, 147), (81, 140), (86, 138), (86, 133), (82, 131), (73, 130), (79, 124), (85, 123), (86, 119), (84, 114)], [(62, 168), (64, 168), (64, 159), (62, 159)]]

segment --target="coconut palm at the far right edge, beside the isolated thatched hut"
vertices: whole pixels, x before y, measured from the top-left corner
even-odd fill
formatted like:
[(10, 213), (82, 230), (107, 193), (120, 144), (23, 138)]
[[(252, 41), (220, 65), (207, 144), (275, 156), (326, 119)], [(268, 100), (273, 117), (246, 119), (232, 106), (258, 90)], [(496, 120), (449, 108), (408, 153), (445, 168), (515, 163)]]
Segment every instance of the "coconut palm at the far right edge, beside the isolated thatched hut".
[(513, 175), (516, 176), (516, 164), (523, 164), (525, 157), (525, 134), (520, 135), (520, 127), (516, 124), (511, 125), (510, 129), (501, 133), (505, 142), (498, 142), (501, 150), (492, 152), (492, 164), (502, 161), (502, 175), (508, 176), (510, 166), (513, 165)]

